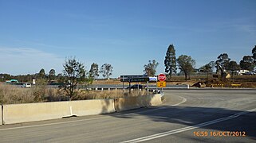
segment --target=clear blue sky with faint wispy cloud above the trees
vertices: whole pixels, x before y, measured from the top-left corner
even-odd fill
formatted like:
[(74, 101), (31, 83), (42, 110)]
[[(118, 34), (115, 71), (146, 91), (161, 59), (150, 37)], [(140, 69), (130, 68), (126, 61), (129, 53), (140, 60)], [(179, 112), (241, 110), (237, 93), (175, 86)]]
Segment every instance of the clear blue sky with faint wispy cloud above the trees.
[(144, 74), (170, 44), (195, 68), (227, 53), (237, 63), (256, 45), (255, 0), (0, 0), (0, 73), (63, 70), (75, 57), (112, 64), (112, 78)]

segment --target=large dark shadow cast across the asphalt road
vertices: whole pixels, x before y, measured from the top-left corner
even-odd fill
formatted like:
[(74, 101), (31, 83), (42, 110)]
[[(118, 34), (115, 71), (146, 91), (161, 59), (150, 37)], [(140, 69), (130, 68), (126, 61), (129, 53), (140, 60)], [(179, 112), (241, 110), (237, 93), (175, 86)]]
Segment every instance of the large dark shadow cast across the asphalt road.
[[(234, 114), (241, 114), (237, 118), (230, 118)], [(223, 108), (195, 107), (195, 106), (161, 106), (139, 110), (128, 110), (115, 114), (108, 114), (115, 118), (138, 118), (144, 116), (154, 122), (169, 122), (185, 126), (196, 126), (204, 122), (211, 122), (219, 118), (228, 120), (216, 122), (207, 126), (200, 126), (198, 130), (210, 129), (212, 131), (238, 131), (245, 132), (246, 137), (256, 139), (256, 112), (243, 112), (241, 110), (226, 110)]]

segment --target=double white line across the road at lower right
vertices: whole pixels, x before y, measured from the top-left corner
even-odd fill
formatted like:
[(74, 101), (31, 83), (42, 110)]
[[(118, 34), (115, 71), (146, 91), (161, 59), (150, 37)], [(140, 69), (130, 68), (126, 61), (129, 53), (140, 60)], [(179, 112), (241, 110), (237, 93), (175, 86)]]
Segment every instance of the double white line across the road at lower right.
[(243, 111), (243, 112), (239, 112), (237, 114), (230, 115), (226, 118), (219, 118), (219, 119), (212, 120), (210, 122), (203, 122), (203, 123), (197, 124), (195, 126), (187, 126), (187, 127), (184, 127), (184, 128), (174, 129), (174, 130), (170, 130), (170, 131), (163, 132), (163, 133), (156, 133), (156, 134), (153, 134), (153, 135), (150, 135), (150, 136), (140, 137), (140, 138), (136, 138), (136, 139), (129, 140), (129, 141), (122, 141), (121, 143), (130, 143), (130, 142), (131, 143), (136, 143), (136, 142), (141, 142), (141, 141), (149, 141), (149, 140), (153, 140), (153, 139), (156, 139), (156, 138), (169, 136), (171, 134), (181, 133), (181, 132), (185, 132), (187, 130), (196, 129), (196, 128), (200, 128), (200, 127), (203, 127), (203, 126), (209, 126), (211, 124), (215, 124), (215, 123), (218, 123), (218, 122), (223, 122), (223, 121), (230, 120), (230, 119), (233, 119), (233, 118), (238, 118), (242, 114), (248, 114), (248, 113), (253, 112), (253, 111), (256, 111), (256, 108), (254, 108), (252, 110), (246, 110), (246, 111)]

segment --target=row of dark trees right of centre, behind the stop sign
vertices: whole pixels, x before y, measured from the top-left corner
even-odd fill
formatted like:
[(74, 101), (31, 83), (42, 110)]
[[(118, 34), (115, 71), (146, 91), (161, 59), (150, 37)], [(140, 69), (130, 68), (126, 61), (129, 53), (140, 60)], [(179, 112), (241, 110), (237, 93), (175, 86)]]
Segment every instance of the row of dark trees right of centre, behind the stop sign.
[[(256, 67), (256, 45), (252, 49), (251, 53), (251, 56), (243, 56), (239, 64), (234, 60), (230, 60), (227, 53), (220, 54), (216, 61), (210, 61), (208, 64), (200, 67), (198, 71), (205, 72), (208, 75), (214, 71), (214, 68), (218, 70), (219, 67), (217, 64), (219, 64), (223, 70), (232, 73), (240, 69), (253, 71)], [(158, 65), (159, 63), (156, 62), (156, 60), (149, 60), (149, 64), (144, 65), (144, 73), (149, 76), (155, 76)], [(167, 48), (164, 66), (168, 79), (171, 79), (171, 75), (177, 73), (178, 68), (180, 72), (185, 75), (186, 80), (191, 72), (195, 72), (195, 60), (193, 60), (191, 56), (187, 55), (181, 55), (176, 58), (173, 44), (170, 44)]]

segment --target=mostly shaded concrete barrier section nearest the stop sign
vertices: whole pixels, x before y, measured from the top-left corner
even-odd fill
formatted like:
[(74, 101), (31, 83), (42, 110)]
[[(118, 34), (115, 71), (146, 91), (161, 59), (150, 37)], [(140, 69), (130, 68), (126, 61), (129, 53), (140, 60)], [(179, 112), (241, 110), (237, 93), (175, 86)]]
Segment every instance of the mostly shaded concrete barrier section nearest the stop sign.
[(115, 99), (116, 112), (138, 109), (144, 106), (156, 106), (162, 103), (161, 95), (143, 95)]

